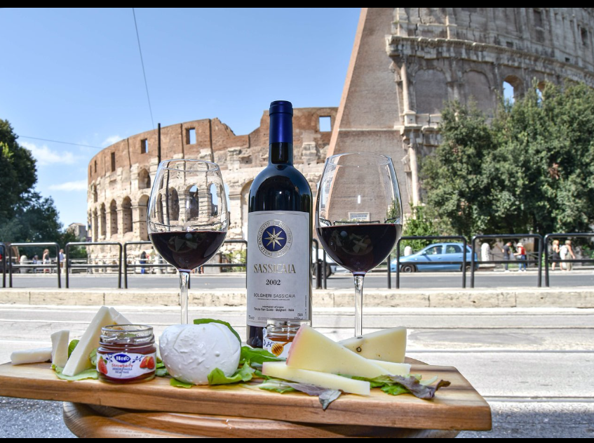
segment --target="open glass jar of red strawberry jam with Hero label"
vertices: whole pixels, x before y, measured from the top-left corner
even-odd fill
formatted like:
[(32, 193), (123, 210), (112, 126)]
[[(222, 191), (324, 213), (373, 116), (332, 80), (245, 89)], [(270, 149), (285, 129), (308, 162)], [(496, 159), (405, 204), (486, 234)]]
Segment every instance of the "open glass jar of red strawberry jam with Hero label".
[(152, 326), (113, 324), (101, 328), (97, 348), (100, 381), (137, 383), (155, 376), (156, 346)]

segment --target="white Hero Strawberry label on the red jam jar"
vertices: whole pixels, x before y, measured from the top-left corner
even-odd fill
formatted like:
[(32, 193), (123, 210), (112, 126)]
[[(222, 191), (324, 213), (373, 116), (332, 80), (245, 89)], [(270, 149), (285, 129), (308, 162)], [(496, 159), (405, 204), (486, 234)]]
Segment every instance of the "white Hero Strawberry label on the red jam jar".
[(128, 354), (114, 352), (97, 354), (97, 371), (110, 378), (136, 378), (154, 372), (156, 352), (152, 354)]

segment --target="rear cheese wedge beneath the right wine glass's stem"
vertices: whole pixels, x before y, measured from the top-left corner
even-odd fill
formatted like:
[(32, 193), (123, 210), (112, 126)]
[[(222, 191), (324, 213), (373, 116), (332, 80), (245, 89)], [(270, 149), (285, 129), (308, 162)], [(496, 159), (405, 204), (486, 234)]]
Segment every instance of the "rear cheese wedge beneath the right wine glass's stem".
[(384, 362), (403, 363), (406, 352), (406, 328), (383, 329), (364, 336), (339, 341), (345, 348), (358, 355)]

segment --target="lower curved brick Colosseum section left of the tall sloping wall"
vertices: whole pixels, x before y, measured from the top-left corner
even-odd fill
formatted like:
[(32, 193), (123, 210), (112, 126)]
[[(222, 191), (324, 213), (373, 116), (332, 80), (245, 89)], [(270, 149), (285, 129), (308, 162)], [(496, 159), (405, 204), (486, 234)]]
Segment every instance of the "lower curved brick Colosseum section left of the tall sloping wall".
[[(312, 190), (320, 179), (337, 108), (297, 108), (293, 117), (295, 166)], [(325, 125), (325, 126), (324, 126)], [(229, 197), (228, 239), (245, 238), (247, 195), (268, 164), (268, 111), (259, 128), (235, 135), (219, 119), (187, 121), (161, 128), (161, 159), (203, 159), (222, 169)], [(158, 131), (121, 140), (99, 152), (88, 168), (88, 223), (93, 242), (148, 240), (147, 204), (158, 167)]]

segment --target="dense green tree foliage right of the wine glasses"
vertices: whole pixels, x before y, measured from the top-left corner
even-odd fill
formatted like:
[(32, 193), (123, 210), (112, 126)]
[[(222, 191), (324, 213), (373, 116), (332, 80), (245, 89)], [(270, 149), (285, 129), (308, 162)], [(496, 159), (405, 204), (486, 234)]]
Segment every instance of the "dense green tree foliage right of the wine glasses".
[(429, 213), (452, 233), (589, 232), (594, 224), (594, 90), (547, 84), (491, 123), (450, 103), (421, 175)]

